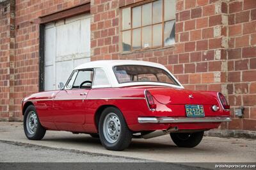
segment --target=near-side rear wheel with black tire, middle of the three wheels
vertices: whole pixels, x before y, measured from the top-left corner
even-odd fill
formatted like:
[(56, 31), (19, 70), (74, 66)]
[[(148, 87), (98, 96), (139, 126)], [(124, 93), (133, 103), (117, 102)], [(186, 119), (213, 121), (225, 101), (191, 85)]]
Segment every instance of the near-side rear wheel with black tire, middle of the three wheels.
[(106, 108), (99, 120), (99, 137), (107, 150), (122, 151), (131, 144), (132, 132), (116, 107)]

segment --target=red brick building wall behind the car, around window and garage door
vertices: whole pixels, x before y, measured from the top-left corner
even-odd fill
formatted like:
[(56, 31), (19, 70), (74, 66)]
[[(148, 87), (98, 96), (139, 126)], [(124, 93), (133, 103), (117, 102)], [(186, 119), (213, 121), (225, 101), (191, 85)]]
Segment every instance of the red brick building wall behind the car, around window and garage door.
[[(21, 120), (21, 98), (38, 91), (39, 25), (35, 20), (87, 1), (17, 0), (15, 39), (8, 35), (11, 29), (6, 20), (10, 20), (10, 15), (0, 15), (2, 120), (10, 117)], [(122, 54), (120, 9), (142, 1), (90, 1), (92, 60), (140, 59), (161, 63), (185, 88), (221, 91), (227, 95), (233, 118), (234, 108), (244, 105), (244, 118), (234, 118), (221, 128), (256, 130), (256, 1), (177, 0), (175, 45)], [(13, 46), (14, 58), (10, 57)], [(12, 79), (14, 84), (10, 85)]]

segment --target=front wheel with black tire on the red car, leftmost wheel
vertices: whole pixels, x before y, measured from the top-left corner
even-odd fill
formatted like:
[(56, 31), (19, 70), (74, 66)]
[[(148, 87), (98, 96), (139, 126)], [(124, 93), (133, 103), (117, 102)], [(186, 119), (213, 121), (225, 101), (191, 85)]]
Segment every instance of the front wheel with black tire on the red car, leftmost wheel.
[(40, 123), (34, 105), (29, 105), (26, 109), (23, 119), (23, 127), (26, 137), (30, 140), (40, 140), (44, 137), (46, 130)]

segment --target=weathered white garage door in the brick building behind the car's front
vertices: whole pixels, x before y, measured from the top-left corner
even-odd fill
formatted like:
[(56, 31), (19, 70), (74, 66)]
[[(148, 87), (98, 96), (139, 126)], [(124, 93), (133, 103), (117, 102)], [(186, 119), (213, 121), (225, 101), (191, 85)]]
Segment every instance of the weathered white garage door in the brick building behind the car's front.
[(58, 89), (77, 65), (90, 61), (90, 15), (45, 25), (44, 89)]

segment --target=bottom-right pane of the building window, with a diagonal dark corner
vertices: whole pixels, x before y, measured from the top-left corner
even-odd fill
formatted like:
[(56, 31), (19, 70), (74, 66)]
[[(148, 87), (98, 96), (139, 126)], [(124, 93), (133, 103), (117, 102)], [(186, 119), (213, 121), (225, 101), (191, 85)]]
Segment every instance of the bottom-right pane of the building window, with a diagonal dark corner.
[(164, 46), (175, 43), (175, 20), (164, 22)]

